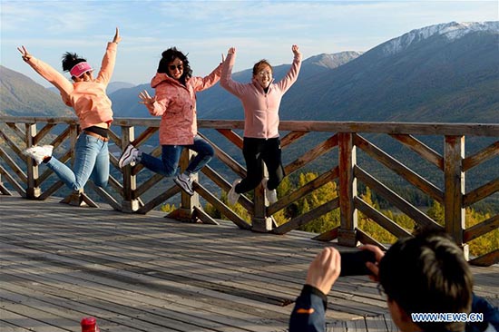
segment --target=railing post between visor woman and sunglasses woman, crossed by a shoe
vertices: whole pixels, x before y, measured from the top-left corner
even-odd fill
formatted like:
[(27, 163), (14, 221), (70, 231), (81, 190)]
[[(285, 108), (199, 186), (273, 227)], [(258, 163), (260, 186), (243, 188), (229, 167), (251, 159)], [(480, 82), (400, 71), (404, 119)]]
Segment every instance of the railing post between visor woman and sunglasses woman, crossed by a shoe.
[[(122, 126), (122, 151), (135, 139), (133, 127)], [(123, 174), (123, 200), (122, 212), (132, 213), (139, 210), (139, 200), (135, 197), (137, 190), (137, 177), (132, 175), (132, 166), (127, 165), (122, 168)]]

